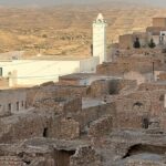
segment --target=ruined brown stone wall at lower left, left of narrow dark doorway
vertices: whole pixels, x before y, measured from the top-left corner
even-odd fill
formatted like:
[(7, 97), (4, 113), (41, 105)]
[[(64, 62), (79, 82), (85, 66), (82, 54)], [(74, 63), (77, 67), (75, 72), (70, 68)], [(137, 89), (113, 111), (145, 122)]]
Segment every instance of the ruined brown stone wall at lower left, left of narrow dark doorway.
[(50, 117), (38, 113), (12, 115), (0, 121), (0, 141), (14, 142), (31, 137), (43, 137), (44, 128), (49, 128)]

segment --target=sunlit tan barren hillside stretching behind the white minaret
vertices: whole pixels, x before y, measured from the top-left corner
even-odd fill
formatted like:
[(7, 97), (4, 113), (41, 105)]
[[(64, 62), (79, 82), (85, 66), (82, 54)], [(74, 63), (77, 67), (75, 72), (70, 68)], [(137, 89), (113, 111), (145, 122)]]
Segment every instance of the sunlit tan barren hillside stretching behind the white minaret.
[(144, 31), (152, 18), (166, 10), (134, 4), (58, 6), (52, 8), (1, 8), (0, 52), (24, 50), (27, 54), (89, 55), (92, 22), (98, 12), (107, 20), (108, 45), (120, 34)]

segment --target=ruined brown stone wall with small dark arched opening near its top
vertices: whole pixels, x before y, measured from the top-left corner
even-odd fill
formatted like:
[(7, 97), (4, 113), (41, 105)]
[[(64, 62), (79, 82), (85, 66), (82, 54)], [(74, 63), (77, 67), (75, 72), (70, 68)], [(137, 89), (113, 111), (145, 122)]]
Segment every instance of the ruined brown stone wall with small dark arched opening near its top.
[(142, 128), (143, 120), (149, 117), (149, 108), (151, 102), (148, 101), (128, 98), (116, 101), (115, 127), (125, 129)]

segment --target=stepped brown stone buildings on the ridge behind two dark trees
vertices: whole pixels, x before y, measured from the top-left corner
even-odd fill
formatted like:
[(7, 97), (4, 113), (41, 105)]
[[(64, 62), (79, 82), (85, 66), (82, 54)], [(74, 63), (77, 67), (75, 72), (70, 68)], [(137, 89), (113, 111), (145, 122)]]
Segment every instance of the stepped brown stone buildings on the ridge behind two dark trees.
[(133, 32), (132, 34), (120, 35), (118, 44), (121, 49), (133, 49), (134, 42), (138, 39), (141, 48), (148, 48), (152, 40), (154, 46), (166, 44), (166, 18), (153, 18), (153, 25), (146, 32)]

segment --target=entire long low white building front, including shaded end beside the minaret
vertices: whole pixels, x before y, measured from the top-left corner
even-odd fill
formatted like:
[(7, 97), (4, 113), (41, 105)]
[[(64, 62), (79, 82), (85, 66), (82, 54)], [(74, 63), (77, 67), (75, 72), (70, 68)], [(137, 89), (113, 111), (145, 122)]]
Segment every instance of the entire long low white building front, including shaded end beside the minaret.
[(12, 60), (1, 61), (2, 76), (10, 77), (10, 85), (38, 85), (49, 81), (59, 81), (59, 76), (95, 72), (98, 58), (76, 61)]

